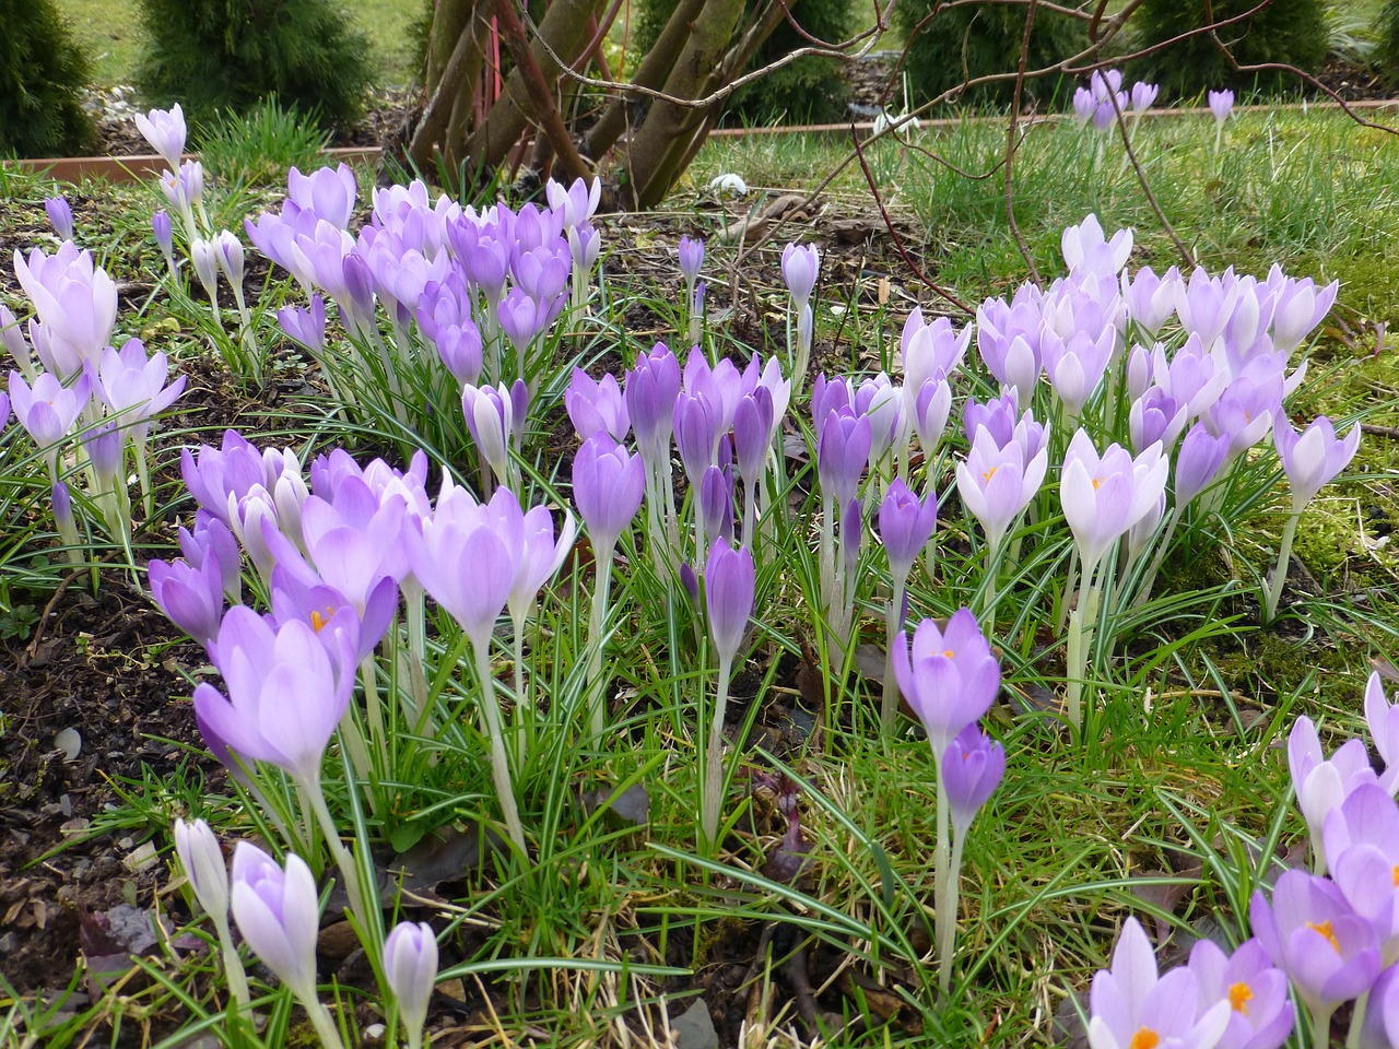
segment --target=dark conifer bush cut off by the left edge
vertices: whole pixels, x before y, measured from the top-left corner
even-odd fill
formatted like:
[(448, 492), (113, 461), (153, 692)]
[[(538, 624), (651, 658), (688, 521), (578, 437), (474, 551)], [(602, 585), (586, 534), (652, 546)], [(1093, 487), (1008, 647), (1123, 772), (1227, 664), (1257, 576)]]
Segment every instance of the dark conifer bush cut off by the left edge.
[(53, 0), (0, 0), (0, 157), (83, 151), (91, 66)]

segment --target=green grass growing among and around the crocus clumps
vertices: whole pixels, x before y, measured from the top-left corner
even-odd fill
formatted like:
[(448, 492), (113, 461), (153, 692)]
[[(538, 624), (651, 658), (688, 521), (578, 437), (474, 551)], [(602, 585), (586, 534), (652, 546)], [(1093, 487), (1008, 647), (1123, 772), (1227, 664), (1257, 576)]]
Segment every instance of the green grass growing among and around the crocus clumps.
[[(925, 134), (919, 141), (961, 166), (985, 169), (996, 159), (999, 134), (1003, 131), (995, 127), (968, 126), (951, 134)], [(1393, 257), (1399, 232), (1392, 199), (1399, 143), (1316, 113), (1305, 119), (1240, 117), (1228, 126), (1227, 152), (1217, 159), (1210, 154), (1212, 138), (1209, 124), (1172, 120), (1144, 126), (1137, 140), (1163, 207), (1200, 260), (1212, 271), (1234, 264), (1244, 273), (1263, 273), (1276, 260), (1290, 273), (1340, 276), (1344, 285), (1337, 313), (1353, 329), (1358, 317), (1393, 322), (1399, 288), (1386, 259)], [(720, 171), (737, 171), (750, 185), (800, 186), (810, 185), (811, 172), (828, 169), (837, 158), (828, 144), (809, 138), (711, 143), (690, 178), (693, 185), (705, 185)], [(939, 280), (972, 301), (1024, 280), (1024, 260), (1009, 236), (1002, 187), (995, 179), (960, 182), (914, 157), (900, 162), (897, 154), (881, 154), (879, 147), (872, 150), (872, 164), (883, 165), (890, 203), (912, 218), (912, 248)], [(1133, 266), (1174, 262), (1168, 239), (1151, 224), (1139, 187), (1130, 172), (1121, 171), (1114, 151), (1094, 159), (1074, 129), (1037, 129), (1017, 157), (1017, 217), (1046, 280), (1059, 274), (1062, 225), (1090, 210), (1109, 229), (1122, 222), (1137, 227)], [(853, 173), (842, 175), (837, 185), (842, 208), (867, 210)], [(0, 169), (0, 187), (8, 190), (0, 194), (0, 231), (22, 231), (28, 241), (39, 241), (35, 231), (42, 225), (42, 199), (50, 186)], [(687, 192), (670, 201), (683, 214), (676, 235), (697, 229), (712, 234), (720, 224), (712, 211), (690, 214)], [(119, 278), (144, 273), (141, 280), (148, 281), (158, 274), (161, 263), (145, 234), (155, 201), (150, 187), (87, 187), (84, 196), (97, 197), (99, 203), (90, 207), (99, 210), (80, 211), (78, 234), (95, 238), (99, 260)], [(255, 200), (225, 200), (215, 214), (221, 224), (236, 228), (234, 220)], [(669, 245), (670, 234), (667, 228), (637, 235), (634, 246), (649, 250), (662, 241)], [(607, 262), (606, 297), (592, 319), (581, 319), (543, 365), (541, 385), (555, 394), (574, 359), (586, 362), (609, 352), (631, 359), (641, 345), (649, 347), (651, 329), (663, 329), (676, 317), (666, 292), (630, 276), (628, 248), (610, 243), (609, 249), (616, 255)], [(711, 302), (715, 309), (727, 308), (722, 285), (739, 249), (711, 236), (708, 250)], [(762, 324), (765, 308), (781, 317), (776, 255), (769, 246), (744, 264), (755, 284), (758, 311), (750, 319), (757, 324)], [(884, 255), (866, 262), (866, 269), (883, 267), (879, 276), (914, 290), (902, 263), (891, 260)], [(651, 281), (651, 271), (646, 274)], [(865, 274), (859, 280), (872, 278)], [(271, 294), (287, 291), (278, 274)], [(297, 290), (290, 295), (301, 298)], [(828, 308), (848, 298), (859, 301), (860, 292), (830, 277), (818, 287), (817, 340), (828, 350), (827, 359), (869, 362), (888, 354), (904, 305), (834, 317)], [(175, 354), (207, 355), (199, 334), (201, 323), (207, 327), (197, 297), (192, 302), (157, 294), (123, 312), (120, 323), (127, 331), (150, 333), (152, 344)], [(725, 351), (741, 354), (746, 347), (739, 333), (746, 330), (753, 329), (719, 320), (711, 337)], [(1337, 334), (1339, 329), (1323, 333), (1312, 352), (1308, 385), (1288, 407), (1298, 418), (1316, 411), (1343, 417), (1365, 413), (1370, 421), (1393, 427), (1399, 421), (1393, 352), (1371, 355), (1368, 331), (1353, 348)], [(260, 337), (269, 343), (278, 338), (270, 324), (260, 329)], [(764, 337), (781, 343), (779, 319), (762, 326), (754, 340)], [(305, 366), (285, 354), (278, 364), (284, 369)], [(298, 410), (305, 414), (298, 417)], [(361, 448), (393, 446), (402, 438), (386, 421), (389, 408), (381, 407), (378, 418), (369, 406), (357, 411), (354, 436)], [(797, 427), (809, 427), (804, 404), (793, 406), (790, 414)], [(351, 439), (351, 428), (325, 400), (287, 410), (281, 422), (291, 432), (257, 439), (302, 449)], [(432, 427), (432, 442), (446, 464), (470, 473), (467, 439), (455, 414)], [(554, 499), (567, 477), (562, 462), (568, 453), (560, 457), (548, 432), (567, 422), (554, 408), (536, 418), (534, 427), (526, 455), (533, 491), (537, 498)], [(207, 438), (166, 435), (164, 455), (168, 459), (179, 441), (200, 439)], [(1269, 456), (1262, 450), (1254, 463), (1260, 484), (1276, 473)], [(789, 469), (796, 474), (799, 467), (793, 463)], [(940, 492), (947, 491), (949, 469), (933, 464), (932, 483)], [(1066, 1039), (1056, 1034), (1053, 1017), (1104, 964), (1126, 913), (1160, 911), (1161, 904), (1150, 901), (1160, 901), (1156, 890), (1170, 883), (1184, 891), (1177, 905), (1167, 908), (1170, 922), (1219, 922), (1233, 933), (1245, 920), (1249, 892), (1270, 867), (1272, 846), (1279, 838), (1291, 843), (1302, 832), (1300, 818), (1283, 804), (1287, 772), (1279, 744), (1293, 718), (1308, 713), (1325, 719), (1328, 745), (1335, 745), (1357, 727), (1360, 690), (1371, 660), (1392, 659), (1399, 650), (1393, 597), (1399, 561), (1371, 530), (1372, 509), (1399, 523), (1399, 497), (1381, 480), (1396, 473), (1399, 445), (1367, 436), (1347, 476), (1323, 490), (1308, 511), (1297, 557), (1323, 583), (1323, 593), (1297, 597), (1286, 614), (1286, 629), (1252, 625), (1248, 594), (1252, 573), (1267, 569), (1276, 547), (1286, 506), (1283, 487), (1265, 484), (1256, 498), (1237, 499), (1224, 518), (1206, 522), (1202, 529), (1230, 530), (1228, 557), (1220, 552), (1217, 537), (1196, 533), (1193, 545), (1184, 544), (1181, 555), (1167, 565), (1164, 594), (1100, 663), (1105, 702), (1091, 747), (1073, 745), (1049, 718), (1020, 713), (1016, 706), (996, 709), (990, 727), (1006, 745), (1009, 771), (971, 832), (957, 993), (950, 1006), (937, 1000), (928, 964), (935, 827), (926, 743), (907, 723), (893, 738), (881, 738), (872, 715), (879, 685), (848, 667), (813, 669), (802, 697), (785, 685), (778, 688), (786, 674), (778, 676), (776, 667), (803, 662), (813, 639), (821, 636), (818, 615), (810, 607), (816, 589), (807, 518), (814, 498), (806, 494), (810, 478), (799, 477), (782, 492), (778, 505), (790, 504), (802, 516), (774, 529), (760, 551), (761, 615), (746, 660), (758, 680), (748, 683), (744, 698), (755, 692), (764, 702), (736, 712), (758, 718), (760, 708), (785, 709), (788, 716), (804, 705), (817, 723), (809, 736), (790, 733), (781, 718), (751, 725), (748, 740), (764, 747), (751, 745), (741, 754), (744, 766), (785, 769), (800, 782), (802, 825), (813, 856), (810, 881), (788, 885), (758, 873), (785, 821), (761, 792), (747, 789), (743, 769), (734, 775), (725, 811), (733, 827), (732, 852), (716, 860), (697, 855), (691, 751), (694, 726), (713, 690), (702, 620), (679, 590), (670, 596), (645, 550), (637, 548), (639, 543), (624, 541), (627, 571), (614, 582), (618, 614), (609, 655), (613, 732), (602, 740), (578, 740), (562, 725), (550, 723), (555, 734), (541, 740), (518, 776), (525, 824), (539, 842), (534, 864), (502, 859), (499, 869), (471, 869), (464, 874), (470, 890), (452, 899), (455, 909), (432, 919), (460, 951), (453, 975), (464, 978), (467, 993), (474, 978), (491, 987), (499, 1008), (492, 1022), (502, 1042), (530, 1038), (550, 1046), (620, 1045), (616, 1024), (625, 1020), (631, 1043), (648, 1043), (637, 1034), (642, 1018), (659, 1028), (663, 1011), (673, 1018), (688, 1004), (680, 997), (667, 1003), (663, 993), (690, 990), (701, 979), (732, 972), (722, 966), (726, 944), (746, 950), (767, 926), (775, 932), (769, 948), (753, 962), (751, 989), (725, 985), (705, 996), (709, 1004), (720, 994), (741, 1003), (750, 1043), (793, 1043), (799, 1020), (785, 962), (799, 950), (811, 964), (813, 982), (831, 979), (821, 1006), (845, 1027), (828, 1032), (830, 1045), (1062, 1043)], [(1052, 695), (1063, 684), (1055, 613), (1069, 594), (1055, 568), (1065, 551), (1056, 498), (1051, 485), (1037, 526), (1024, 531), (1025, 575), (1007, 585), (1011, 596), (1000, 606), (995, 627), (1016, 695)], [(936, 579), (919, 576), (911, 587), (914, 620), (946, 615), (979, 590), (978, 529), (960, 518), (954, 501), (946, 505), (933, 558)], [(881, 641), (881, 572), (872, 545), (856, 573), (863, 587), (863, 636), (870, 643)], [(551, 711), (582, 702), (579, 666), (593, 585), (586, 562), (575, 559), (565, 566), (547, 589), (544, 611), (532, 629), (533, 687), (550, 697)], [(1365, 603), (1356, 600), (1357, 594), (1364, 594)], [(429, 656), (438, 670), (434, 685), (446, 706), (469, 709), (474, 695), (470, 664), (455, 657), (459, 653), (449, 645), (453, 628), (445, 617), (438, 629), (442, 645), (435, 643)], [(495, 655), (499, 680), (509, 681), (511, 652), (501, 646)], [(395, 732), (400, 754), (417, 751), (417, 757), (403, 759), (395, 776), (371, 792), (379, 810), (372, 820), (360, 820), (367, 836), (406, 842), (443, 822), (474, 828), (483, 811), (495, 813), (483, 740), (471, 718), (443, 720), (439, 737), (425, 750), (417, 750), (409, 733)], [(353, 813), (337, 761), (327, 762), (326, 778), (332, 804), (348, 824)], [(642, 785), (651, 801), (642, 829), (589, 814), (581, 804), (583, 793), (599, 786), (620, 790), (632, 783)], [(278, 790), (292, 806), (290, 792)], [(129, 785), (129, 806), (112, 818), (127, 821), (125, 827), (144, 825), (164, 842), (169, 818), (200, 804), (203, 792), (192, 787), (189, 778), (173, 778), (168, 785), (154, 779)], [(253, 829), (248, 811), (256, 806), (239, 807), (222, 796), (204, 803), (227, 835)], [(172, 918), (172, 925), (179, 920)], [(536, 965), (537, 958), (564, 961)], [(711, 968), (701, 979), (690, 979), (662, 972), (667, 964)], [(583, 965), (596, 968), (579, 968)], [(655, 968), (644, 971), (646, 965)], [(194, 1011), (189, 1003), (217, 1010), (221, 985), (207, 964), (179, 965), (169, 958), (147, 990), (53, 1021), (53, 1029), (77, 1032), (112, 1015), (125, 1015), (132, 1024), (143, 1010), (172, 1011), (176, 993), (186, 996), (182, 1007), (189, 1013)], [(269, 1042), (292, 1022), (285, 992), (274, 997), (280, 1004), (271, 1010)], [(3, 1024), (0, 1014), (0, 1031)]]

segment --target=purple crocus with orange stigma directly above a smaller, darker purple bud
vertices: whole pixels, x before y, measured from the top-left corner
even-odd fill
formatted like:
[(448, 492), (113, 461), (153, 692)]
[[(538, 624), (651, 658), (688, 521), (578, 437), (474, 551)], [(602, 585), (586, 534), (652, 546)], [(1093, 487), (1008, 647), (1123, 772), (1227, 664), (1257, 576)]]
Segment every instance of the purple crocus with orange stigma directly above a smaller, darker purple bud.
[(923, 722), (933, 754), (942, 755), (990, 709), (1000, 691), (1000, 664), (970, 608), (958, 608), (946, 631), (923, 620), (912, 639), (901, 632), (891, 645), (898, 688)]

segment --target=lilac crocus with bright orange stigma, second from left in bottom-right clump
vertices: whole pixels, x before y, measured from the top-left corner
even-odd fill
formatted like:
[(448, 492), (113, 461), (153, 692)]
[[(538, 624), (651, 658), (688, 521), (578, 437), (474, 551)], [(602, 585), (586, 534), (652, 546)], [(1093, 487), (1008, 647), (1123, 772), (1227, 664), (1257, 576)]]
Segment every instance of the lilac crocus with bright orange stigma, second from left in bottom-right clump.
[(1202, 1008), (1228, 1003), (1228, 1022), (1216, 1049), (1280, 1049), (1287, 1041), (1295, 1020), (1287, 976), (1269, 962), (1258, 940), (1244, 941), (1234, 954), (1200, 940), (1191, 948), (1188, 965)]

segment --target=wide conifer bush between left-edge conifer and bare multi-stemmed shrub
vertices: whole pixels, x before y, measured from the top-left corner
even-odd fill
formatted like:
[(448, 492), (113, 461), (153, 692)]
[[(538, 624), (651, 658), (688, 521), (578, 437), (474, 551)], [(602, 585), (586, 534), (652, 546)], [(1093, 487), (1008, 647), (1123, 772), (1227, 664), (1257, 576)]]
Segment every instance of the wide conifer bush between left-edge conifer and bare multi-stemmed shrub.
[(325, 127), (364, 112), (368, 38), (332, 0), (140, 0), (145, 50), (136, 83), (192, 123), (277, 101)]

